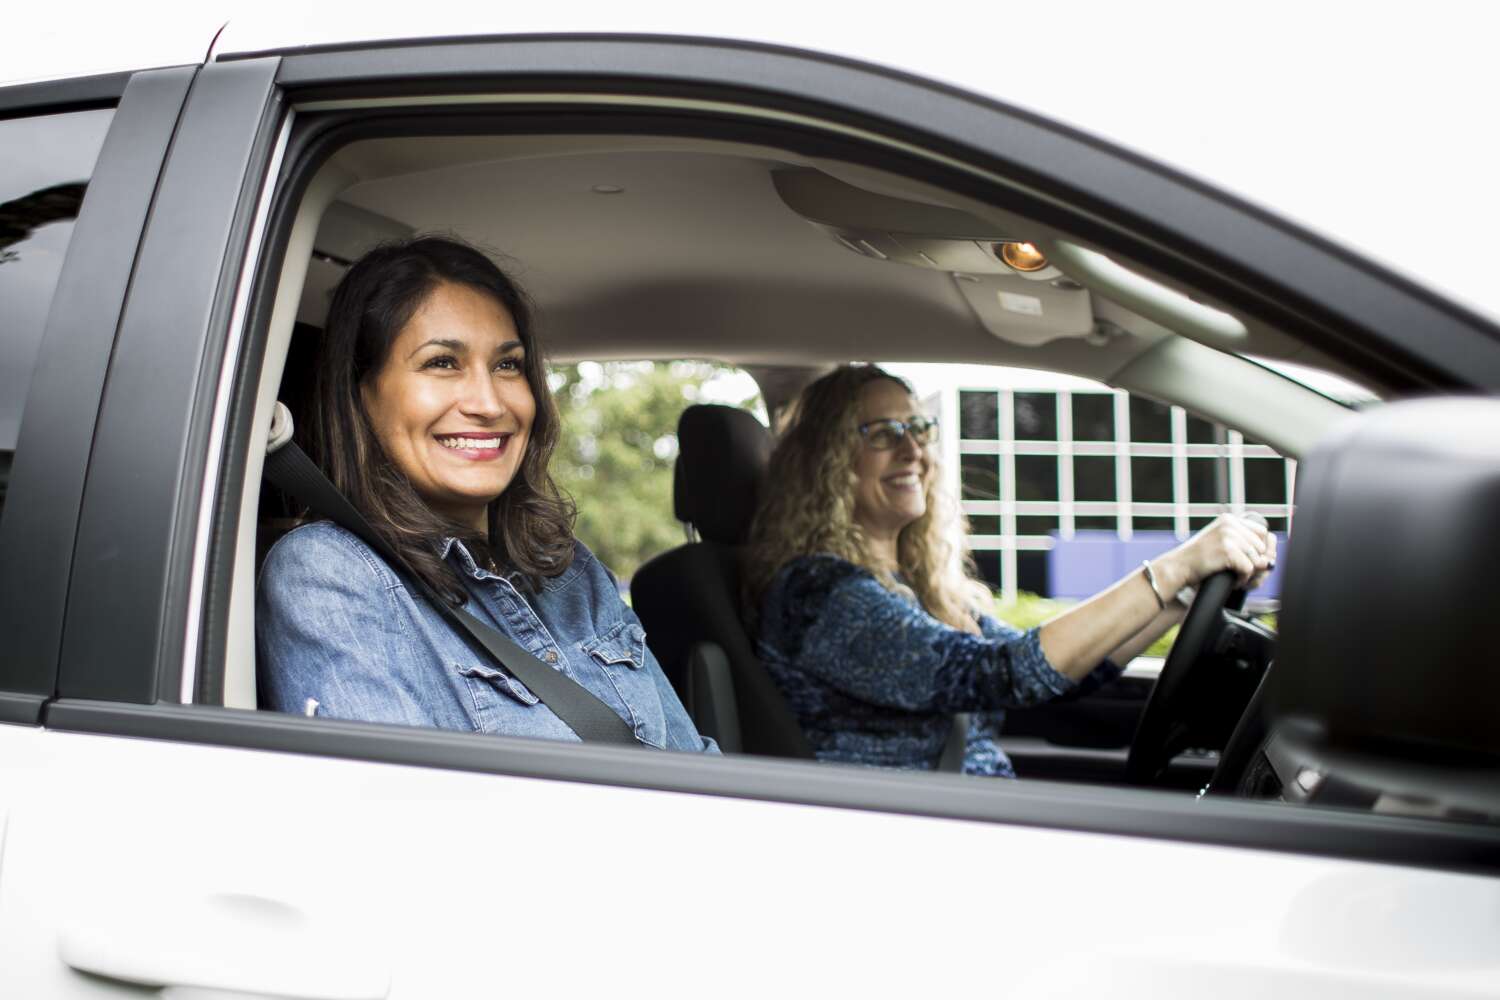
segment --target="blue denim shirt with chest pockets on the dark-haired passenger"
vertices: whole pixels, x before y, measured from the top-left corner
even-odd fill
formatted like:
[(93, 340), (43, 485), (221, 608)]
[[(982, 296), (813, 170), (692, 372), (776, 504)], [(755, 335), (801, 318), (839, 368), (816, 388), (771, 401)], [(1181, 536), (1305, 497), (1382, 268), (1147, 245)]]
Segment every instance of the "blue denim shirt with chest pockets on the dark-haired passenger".
[[(693, 727), (614, 577), (582, 543), (567, 570), (525, 595), (519, 577), (480, 568), (453, 538), (442, 558), (477, 618), (592, 691), (642, 744), (717, 753)], [(303, 525), (272, 547), (256, 591), (255, 648), (261, 708), (578, 739), (333, 522)]]

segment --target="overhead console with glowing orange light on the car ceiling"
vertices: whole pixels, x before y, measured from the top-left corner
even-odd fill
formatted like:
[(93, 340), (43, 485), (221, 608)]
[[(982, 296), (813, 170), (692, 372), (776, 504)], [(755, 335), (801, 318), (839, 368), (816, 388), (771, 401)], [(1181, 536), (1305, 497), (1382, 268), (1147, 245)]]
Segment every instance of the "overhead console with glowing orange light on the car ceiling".
[(891, 264), (945, 271), (986, 330), (1036, 346), (1059, 337), (1107, 340), (1089, 292), (1022, 234), (966, 211), (879, 195), (816, 169), (778, 169), (776, 192), (834, 243)]

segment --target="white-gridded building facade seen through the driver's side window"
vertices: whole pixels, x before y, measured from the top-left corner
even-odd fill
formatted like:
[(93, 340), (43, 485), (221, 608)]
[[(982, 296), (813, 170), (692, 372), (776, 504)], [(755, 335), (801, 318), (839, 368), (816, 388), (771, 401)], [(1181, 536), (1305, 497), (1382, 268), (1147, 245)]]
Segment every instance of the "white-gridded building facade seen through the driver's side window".
[[(1296, 462), (1233, 427), (1041, 372), (900, 373), (939, 417), (975, 562), (1008, 597), (1088, 597), (1222, 511), (1258, 511), (1286, 544)], [(1276, 592), (1274, 576), (1257, 597)]]

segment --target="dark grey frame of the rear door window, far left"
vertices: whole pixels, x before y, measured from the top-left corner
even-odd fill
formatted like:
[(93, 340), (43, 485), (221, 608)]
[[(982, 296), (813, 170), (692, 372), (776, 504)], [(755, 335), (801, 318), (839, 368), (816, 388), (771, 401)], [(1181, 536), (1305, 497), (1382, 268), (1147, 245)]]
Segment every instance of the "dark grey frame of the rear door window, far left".
[(36, 724), (57, 690), (84, 477), (110, 354), (195, 69), (0, 91), (0, 117), (114, 111), (52, 294), (0, 525), (0, 634), (8, 645), (0, 661), (0, 721)]

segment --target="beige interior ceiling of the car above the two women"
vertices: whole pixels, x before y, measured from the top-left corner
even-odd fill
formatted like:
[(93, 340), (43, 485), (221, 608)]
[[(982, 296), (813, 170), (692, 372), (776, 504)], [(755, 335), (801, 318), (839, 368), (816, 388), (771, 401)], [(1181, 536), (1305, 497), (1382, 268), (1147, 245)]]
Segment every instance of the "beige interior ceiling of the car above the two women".
[[(993, 219), (922, 190), (898, 198), (902, 178), (882, 175), (880, 190), (874, 171), (784, 150), (668, 136), (442, 136), (357, 142), (333, 163), (354, 183), (320, 228), (324, 259), (298, 310), (306, 322), (320, 322), (336, 262), (357, 256), (362, 238), (452, 231), (508, 259), (558, 358), (819, 366), (920, 352), (1107, 379), (1161, 336), (1152, 324), (1140, 337), (1096, 336), (1089, 292), (1028, 280), (974, 240), (948, 238), (958, 225), (963, 237), (1010, 235)], [(789, 207), (789, 177), (819, 183), (813, 201), (852, 211), (818, 219)], [(864, 229), (884, 226), (906, 243), (888, 259), (850, 252), (828, 219), (855, 226), (860, 211)], [(951, 265), (964, 249), (962, 271), (920, 256)]]

